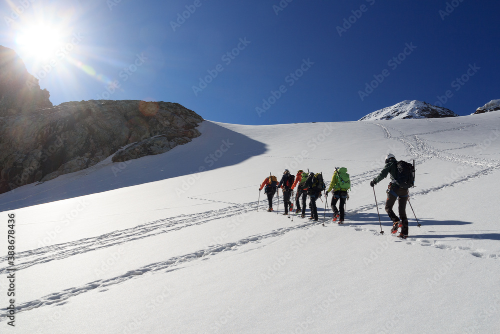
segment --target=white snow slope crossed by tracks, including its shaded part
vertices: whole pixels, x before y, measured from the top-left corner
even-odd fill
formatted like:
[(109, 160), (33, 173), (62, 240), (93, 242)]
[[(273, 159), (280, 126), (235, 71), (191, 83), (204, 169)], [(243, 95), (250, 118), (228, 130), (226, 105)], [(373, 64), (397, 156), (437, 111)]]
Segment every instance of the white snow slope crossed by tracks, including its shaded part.
[[(500, 331), (500, 114), (242, 126), (0, 195), (1, 332)], [(389, 234), (387, 152), (417, 166)], [(346, 167), (344, 225), (265, 212), (284, 168)], [(257, 199), (260, 202), (257, 203)], [(329, 199), (329, 198), (328, 198)], [(258, 211), (257, 211), (258, 205)], [(323, 218), (324, 204), (318, 201)], [(7, 265), (7, 214), (15, 264)], [(7, 267), (15, 327), (7, 325)]]

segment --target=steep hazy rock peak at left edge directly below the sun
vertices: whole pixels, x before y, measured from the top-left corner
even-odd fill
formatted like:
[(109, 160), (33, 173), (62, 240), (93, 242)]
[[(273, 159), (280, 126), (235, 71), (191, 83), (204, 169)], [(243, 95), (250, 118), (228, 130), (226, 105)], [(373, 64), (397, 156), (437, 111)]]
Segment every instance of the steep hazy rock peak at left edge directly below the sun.
[(0, 46), (0, 117), (51, 107), (49, 93), (26, 71), (17, 54)]

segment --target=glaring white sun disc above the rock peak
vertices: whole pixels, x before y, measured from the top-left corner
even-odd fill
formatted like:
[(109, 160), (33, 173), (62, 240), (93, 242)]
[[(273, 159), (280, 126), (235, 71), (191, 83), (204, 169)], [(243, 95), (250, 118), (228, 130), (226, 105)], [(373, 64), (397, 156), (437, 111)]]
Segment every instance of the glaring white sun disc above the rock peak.
[(33, 24), (18, 31), (15, 43), (27, 54), (38, 61), (53, 58), (57, 49), (63, 46), (60, 28), (47, 23)]

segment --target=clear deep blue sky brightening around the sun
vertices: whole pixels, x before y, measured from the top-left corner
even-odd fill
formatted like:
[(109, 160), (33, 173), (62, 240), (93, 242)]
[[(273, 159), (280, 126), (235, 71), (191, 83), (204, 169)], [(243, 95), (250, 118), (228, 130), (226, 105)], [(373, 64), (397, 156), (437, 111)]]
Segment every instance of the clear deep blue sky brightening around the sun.
[[(500, 98), (498, 1), (1, 4), (0, 45), (54, 105), (169, 101), (260, 125), (355, 121), (403, 100), (468, 115)], [(43, 58), (47, 36), (37, 48), (19, 38), (38, 21), (60, 35)]]

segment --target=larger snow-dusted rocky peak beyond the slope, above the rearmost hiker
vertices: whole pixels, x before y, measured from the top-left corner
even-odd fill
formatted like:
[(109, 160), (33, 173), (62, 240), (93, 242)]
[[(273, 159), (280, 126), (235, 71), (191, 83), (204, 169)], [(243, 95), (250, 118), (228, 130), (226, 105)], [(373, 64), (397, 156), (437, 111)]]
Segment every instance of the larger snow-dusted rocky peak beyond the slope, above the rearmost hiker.
[(449, 109), (433, 106), (427, 102), (405, 100), (390, 107), (372, 112), (359, 121), (379, 121), (408, 118), (440, 118), (458, 116)]

